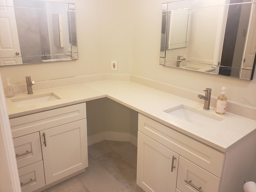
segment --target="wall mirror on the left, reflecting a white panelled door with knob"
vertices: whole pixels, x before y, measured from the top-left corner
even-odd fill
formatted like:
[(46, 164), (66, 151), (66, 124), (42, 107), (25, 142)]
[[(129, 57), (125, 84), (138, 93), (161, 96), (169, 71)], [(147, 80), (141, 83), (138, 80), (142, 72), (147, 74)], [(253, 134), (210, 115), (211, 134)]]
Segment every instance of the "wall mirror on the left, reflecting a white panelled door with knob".
[(0, 66), (77, 60), (75, 4), (0, 1)]

